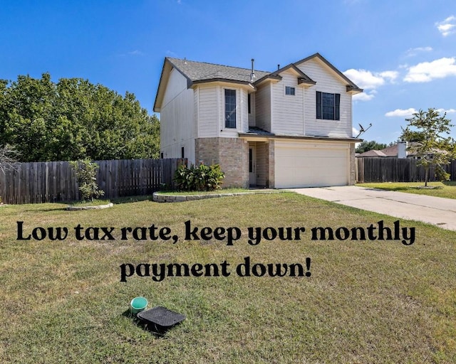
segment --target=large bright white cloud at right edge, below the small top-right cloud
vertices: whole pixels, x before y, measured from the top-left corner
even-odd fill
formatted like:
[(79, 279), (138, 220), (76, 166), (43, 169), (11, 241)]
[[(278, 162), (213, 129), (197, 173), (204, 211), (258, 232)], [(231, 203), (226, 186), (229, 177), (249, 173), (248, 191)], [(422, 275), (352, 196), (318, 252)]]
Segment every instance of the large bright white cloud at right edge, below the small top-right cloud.
[(405, 82), (430, 82), (435, 78), (456, 75), (456, 59), (440, 58), (432, 62), (422, 62), (408, 68)]

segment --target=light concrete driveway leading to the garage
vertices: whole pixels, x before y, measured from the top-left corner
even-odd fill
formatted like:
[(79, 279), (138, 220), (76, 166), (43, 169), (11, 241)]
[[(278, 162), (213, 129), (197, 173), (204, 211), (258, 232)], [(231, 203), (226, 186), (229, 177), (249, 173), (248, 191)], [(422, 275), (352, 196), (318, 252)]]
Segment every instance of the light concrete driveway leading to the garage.
[(290, 188), (289, 191), (456, 231), (456, 200), (450, 198), (356, 186)]

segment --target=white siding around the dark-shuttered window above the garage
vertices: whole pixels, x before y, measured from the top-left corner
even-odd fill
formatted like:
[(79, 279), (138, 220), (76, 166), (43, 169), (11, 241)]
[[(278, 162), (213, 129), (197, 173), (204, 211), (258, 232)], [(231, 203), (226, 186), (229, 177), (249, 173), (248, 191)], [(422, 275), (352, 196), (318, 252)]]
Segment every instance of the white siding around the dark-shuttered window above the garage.
[[(352, 137), (351, 95), (346, 92), (346, 82), (337, 77), (333, 70), (316, 58), (297, 65), (316, 85), (305, 92), (304, 112), (306, 135), (324, 137)], [(316, 91), (341, 94), (341, 119), (316, 119)]]

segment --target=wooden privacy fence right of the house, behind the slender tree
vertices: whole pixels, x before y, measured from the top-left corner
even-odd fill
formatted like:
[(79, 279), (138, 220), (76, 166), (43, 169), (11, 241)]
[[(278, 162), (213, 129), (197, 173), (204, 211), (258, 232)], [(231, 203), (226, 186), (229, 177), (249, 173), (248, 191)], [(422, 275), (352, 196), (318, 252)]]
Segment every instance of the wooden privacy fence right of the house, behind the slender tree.
[[(356, 182), (424, 182), (425, 168), (417, 159), (357, 158)], [(456, 161), (444, 166), (450, 181), (456, 181)], [(429, 171), (429, 181), (435, 181), (435, 168)]]

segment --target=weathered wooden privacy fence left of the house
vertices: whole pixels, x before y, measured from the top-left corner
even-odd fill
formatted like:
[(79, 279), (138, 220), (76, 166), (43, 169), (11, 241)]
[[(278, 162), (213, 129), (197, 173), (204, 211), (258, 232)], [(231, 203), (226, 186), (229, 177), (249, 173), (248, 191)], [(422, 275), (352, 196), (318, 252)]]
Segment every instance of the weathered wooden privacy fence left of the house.
[[(162, 184), (174, 188), (174, 172), (187, 159), (123, 159), (94, 161), (97, 183), (105, 198), (148, 195)], [(79, 199), (78, 182), (68, 161), (16, 164), (0, 171), (4, 203), (45, 203)]]

